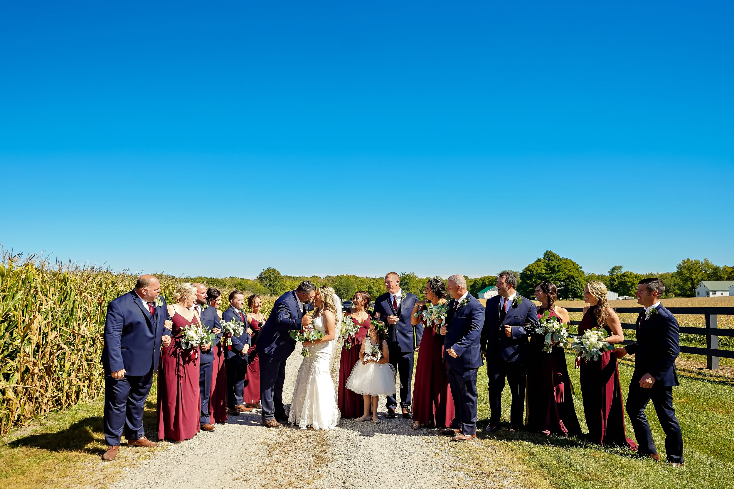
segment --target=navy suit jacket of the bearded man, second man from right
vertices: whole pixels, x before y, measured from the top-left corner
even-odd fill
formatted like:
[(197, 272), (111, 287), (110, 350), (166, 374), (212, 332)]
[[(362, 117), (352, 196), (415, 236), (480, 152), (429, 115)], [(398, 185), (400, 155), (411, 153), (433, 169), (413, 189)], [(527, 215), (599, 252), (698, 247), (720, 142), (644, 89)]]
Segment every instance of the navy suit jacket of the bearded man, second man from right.
[[(528, 298), (521, 304), (512, 304), (506, 315), (500, 311), (500, 295), (487, 300), (482, 328), (482, 350), (490, 361), (519, 361), (523, 363), (528, 351), (528, 337), (540, 327), (535, 304)], [(526, 326), (527, 323), (527, 326)], [(512, 326), (512, 336), (504, 332), (506, 325)]]

